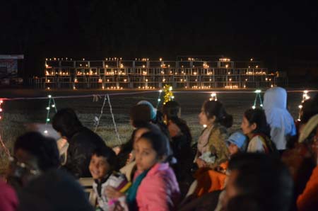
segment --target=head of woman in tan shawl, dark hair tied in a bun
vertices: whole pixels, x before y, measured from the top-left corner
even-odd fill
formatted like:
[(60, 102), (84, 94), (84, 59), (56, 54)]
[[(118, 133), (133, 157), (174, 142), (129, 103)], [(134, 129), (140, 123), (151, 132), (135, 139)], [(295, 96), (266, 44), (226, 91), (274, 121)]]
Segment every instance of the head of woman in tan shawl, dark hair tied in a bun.
[(225, 127), (231, 127), (233, 122), (232, 115), (226, 113), (220, 101), (205, 101), (199, 113), (200, 125), (213, 125), (220, 123)]

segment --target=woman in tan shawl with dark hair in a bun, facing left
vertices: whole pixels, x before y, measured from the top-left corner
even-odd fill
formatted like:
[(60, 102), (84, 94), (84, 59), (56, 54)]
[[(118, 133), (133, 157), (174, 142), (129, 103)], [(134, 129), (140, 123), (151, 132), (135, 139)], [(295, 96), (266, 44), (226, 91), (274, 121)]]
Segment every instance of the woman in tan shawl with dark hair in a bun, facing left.
[(226, 113), (219, 101), (206, 101), (199, 114), (200, 125), (206, 125), (198, 140), (198, 149), (194, 161), (201, 167), (215, 168), (228, 160), (229, 152), (225, 144), (228, 138), (226, 127), (232, 126), (232, 115)]

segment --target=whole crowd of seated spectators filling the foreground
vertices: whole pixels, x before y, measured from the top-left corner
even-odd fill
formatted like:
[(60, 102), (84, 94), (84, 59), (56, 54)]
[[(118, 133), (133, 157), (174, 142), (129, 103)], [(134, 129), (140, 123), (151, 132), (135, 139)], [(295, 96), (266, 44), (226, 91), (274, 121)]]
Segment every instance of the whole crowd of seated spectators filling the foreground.
[[(59, 140), (18, 137), (0, 180), (0, 210), (317, 210), (318, 94), (294, 121), (287, 92), (264, 94), (241, 129), (220, 101), (205, 101), (194, 140), (181, 105), (140, 101), (129, 113), (131, 138), (111, 149), (71, 108), (54, 115)], [(199, 110), (199, 109), (198, 109)], [(81, 178), (92, 178), (84, 192)]]

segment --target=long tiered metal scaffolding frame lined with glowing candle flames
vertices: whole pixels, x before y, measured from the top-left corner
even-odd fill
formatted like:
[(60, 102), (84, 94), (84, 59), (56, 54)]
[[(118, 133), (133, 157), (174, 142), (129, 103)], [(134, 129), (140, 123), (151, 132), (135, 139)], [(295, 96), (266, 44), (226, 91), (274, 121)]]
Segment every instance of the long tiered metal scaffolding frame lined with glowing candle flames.
[(261, 62), (179, 61), (149, 59), (70, 60), (46, 59), (45, 77), (35, 86), (46, 89), (244, 89), (276, 86), (276, 74)]

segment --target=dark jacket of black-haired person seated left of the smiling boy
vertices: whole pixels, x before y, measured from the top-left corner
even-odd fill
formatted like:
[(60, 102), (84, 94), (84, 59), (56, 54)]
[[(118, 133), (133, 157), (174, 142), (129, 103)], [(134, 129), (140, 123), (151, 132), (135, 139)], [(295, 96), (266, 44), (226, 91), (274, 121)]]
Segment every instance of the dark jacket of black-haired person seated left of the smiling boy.
[(82, 127), (69, 139), (64, 168), (76, 178), (91, 177), (88, 169), (90, 157), (96, 148), (105, 146), (105, 142), (99, 135), (87, 127)]

